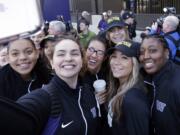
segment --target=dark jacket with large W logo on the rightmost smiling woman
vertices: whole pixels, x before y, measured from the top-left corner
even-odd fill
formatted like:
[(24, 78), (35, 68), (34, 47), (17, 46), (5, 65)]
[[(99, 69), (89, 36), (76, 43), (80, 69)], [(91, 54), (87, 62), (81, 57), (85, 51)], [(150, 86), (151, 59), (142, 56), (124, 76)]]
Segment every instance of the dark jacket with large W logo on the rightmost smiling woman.
[[(157, 135), (180, 135), (180, 67), (171, 61), (152, 77), (152, 122)], [(154, 96), (153, 96), (154, 95)]]

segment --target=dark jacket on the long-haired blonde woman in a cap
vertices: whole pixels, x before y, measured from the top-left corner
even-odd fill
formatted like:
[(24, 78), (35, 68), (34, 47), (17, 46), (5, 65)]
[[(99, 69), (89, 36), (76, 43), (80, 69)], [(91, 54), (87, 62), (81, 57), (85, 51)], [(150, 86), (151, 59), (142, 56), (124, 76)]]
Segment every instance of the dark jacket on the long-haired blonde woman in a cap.
[(113, 117), (112, 135), (150, 135), (150, 110), (146, 93), (140, 88), (131, 88), (122, 102), (122, 115)]

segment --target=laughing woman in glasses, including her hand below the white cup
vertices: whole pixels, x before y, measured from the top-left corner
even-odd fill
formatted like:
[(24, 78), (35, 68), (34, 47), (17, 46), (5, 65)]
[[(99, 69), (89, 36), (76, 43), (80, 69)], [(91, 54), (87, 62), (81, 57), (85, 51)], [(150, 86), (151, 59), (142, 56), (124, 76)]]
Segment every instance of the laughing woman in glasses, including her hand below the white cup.
[[(90, 40), (86, 53), (85, 53), (85, 61), (86, 61), (86, 72), (84, 77), (84, 82), (93, 87), (93, 83), (96, 80), (103, 79), (107, 81), (107, 72), (108, 65), (107, 59), (105, 56), (105, 52), (107, 50), (107, 44), (104, 39), (97, 36)], [(104, 108), (104, 103), (106, 101), (106, 90), (102, 92), (95, 92), (96, 99), (100, 104), (101, 110), (101, 127), (99, 129), (99, 134), (108, 135), (107, 131), (107, 114)]]

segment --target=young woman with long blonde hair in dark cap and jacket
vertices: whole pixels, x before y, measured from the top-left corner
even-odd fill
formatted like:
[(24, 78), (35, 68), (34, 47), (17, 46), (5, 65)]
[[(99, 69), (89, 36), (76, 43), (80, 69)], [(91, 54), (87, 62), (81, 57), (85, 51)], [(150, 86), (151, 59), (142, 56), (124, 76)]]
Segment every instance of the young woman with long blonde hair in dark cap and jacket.
[(112, 135), (148, 135), (149, 106), (139, 78), (137, 43), (123, 41), (108, 50), (108, 124)]

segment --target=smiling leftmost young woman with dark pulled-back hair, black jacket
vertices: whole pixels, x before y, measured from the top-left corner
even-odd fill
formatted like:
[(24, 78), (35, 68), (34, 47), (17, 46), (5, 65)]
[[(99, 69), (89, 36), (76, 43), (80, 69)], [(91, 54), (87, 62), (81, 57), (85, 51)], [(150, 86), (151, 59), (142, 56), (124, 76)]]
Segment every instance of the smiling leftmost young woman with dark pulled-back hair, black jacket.
[(0, 96), (17, 100), (49, 82), (49, 71), (30, 39), (12, 41), (7, 50), (9, 64), (0, 70)]

